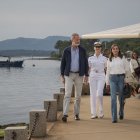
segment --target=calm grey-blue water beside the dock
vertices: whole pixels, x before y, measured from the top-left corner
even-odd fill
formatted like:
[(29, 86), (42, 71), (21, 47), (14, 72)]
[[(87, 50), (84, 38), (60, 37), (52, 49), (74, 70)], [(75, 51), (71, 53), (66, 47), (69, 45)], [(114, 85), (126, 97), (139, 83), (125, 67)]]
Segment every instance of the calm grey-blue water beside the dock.
[(62, 87), (60, 61), (25, 60), (23, 66), (0, 68), (0, 125), (28, 123), (29, 111), (43, 109), (43, 101)]

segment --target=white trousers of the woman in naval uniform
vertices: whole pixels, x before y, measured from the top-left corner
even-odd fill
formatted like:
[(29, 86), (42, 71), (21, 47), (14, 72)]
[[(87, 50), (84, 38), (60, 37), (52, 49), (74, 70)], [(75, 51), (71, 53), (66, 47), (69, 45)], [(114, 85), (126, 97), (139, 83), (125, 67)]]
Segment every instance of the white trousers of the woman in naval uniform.
[(89, 77), (90, 82), (90, 107), (91, 114), (97, 115), (97, 104), (99, 105), (99, 116), (103, 116), (103, 89), (105, 86), (105, 74), (96, 73)]

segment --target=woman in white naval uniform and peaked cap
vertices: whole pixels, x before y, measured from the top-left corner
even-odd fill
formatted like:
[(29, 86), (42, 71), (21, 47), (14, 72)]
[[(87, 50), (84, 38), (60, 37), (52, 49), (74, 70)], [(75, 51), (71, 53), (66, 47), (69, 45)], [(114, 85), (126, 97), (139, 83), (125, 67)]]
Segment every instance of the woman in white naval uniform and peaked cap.
[[(91, 119), (103, 118), (103, 89), (105, 85), (105, 69), (107, 58), (101, 54), (102, 44), (94, 43), (95, 54), (88, 59), (90, 83)], [(97, 108), (97, 106), (99, 108)], [(97, 114), (97, 111), (98, 114)]]

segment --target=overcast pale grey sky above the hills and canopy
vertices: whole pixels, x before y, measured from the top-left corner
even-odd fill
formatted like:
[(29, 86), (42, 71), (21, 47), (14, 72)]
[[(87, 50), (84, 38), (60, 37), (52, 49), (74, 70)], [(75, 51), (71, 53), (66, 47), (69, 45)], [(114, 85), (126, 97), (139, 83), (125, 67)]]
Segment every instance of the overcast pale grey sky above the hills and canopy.
[(140, 23), (140, 0), (0, 0), (0, 41), (94, 33)]

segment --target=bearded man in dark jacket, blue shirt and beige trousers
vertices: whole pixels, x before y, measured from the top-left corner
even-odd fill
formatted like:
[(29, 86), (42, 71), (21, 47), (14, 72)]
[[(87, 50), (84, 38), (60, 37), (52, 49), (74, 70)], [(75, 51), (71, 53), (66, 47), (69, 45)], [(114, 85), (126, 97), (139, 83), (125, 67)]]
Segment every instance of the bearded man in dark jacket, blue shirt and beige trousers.
[(61, 60), (61, 79), (65, 86), (63, 122), (67, 122), (73, 84), (75, 86), (74, 116), (75, 120), (80, 120), (80, 98), (83, 80), (85, 83), (88, 81), (88, 59), (86, 50), (81, 47), (80, 37), (77, 33), (72, 34), (71, 42), (71, 46), (64, 50)]

